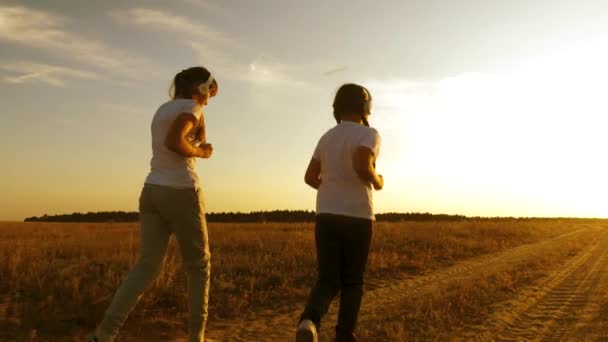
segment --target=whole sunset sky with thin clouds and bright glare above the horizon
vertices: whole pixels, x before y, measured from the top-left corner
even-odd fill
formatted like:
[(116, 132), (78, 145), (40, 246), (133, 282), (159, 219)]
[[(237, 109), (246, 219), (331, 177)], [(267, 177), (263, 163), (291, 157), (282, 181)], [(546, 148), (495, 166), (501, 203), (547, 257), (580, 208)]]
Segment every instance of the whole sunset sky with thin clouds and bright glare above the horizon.
[(220, 91), (208, 211), (313, 209), (345, 82), (374, 97), (378, 212), (608, 217), (608, 2), (0, 2), (0, 220), (137, 209), (176, 72)]

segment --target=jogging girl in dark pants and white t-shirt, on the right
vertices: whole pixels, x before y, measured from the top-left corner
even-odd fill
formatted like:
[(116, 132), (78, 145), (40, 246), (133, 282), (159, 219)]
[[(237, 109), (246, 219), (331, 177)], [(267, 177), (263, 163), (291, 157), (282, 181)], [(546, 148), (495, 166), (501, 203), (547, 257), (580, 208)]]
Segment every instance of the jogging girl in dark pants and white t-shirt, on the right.
[(319, 140), (304, 177), (317, 189), (315, 243), (318, 279), (296, 330), (297, 342), (317, 340), (321, 319), (340, 293), (336, 341), (356, 341), (354, 331), (375, 219), (373, 189), (384, 186), (375, 170), (380, 135), (369, 127), (371, 94), (345, 84), (334, 100), (338, 123)]

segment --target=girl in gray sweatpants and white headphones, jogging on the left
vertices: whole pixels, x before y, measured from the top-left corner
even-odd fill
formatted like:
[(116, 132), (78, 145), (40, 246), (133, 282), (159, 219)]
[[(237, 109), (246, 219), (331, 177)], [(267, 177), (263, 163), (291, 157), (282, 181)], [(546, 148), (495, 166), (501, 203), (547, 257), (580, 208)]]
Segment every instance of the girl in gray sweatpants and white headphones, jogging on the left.
[(137, 263), (117, 290), (90, 342), (113, 341), (129, 312), (162, 268), (175, 234), (188, 275), (189, 341), (205, 337), (210, 253), (196, 158), (209, 158), (203, 106), (218, 91), (203, 67), (182, 70), (173, 79), (172, 99), (152, 119), (152, 160), (140, 198), (141, 247)]

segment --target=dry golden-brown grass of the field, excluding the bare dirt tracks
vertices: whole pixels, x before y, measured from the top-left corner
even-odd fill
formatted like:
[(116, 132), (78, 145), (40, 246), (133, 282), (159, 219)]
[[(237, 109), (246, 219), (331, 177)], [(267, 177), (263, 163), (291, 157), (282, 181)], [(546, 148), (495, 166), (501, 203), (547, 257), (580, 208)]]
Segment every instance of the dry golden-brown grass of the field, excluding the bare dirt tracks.
[[(423, 295), (404, 292), (409, 299), (399, 310), (364, 310), (361, 333), (369, 341), (440, 339), (481, 324), (490, 304), (588, 245), (598, 231), (589, 225), (594, 226), (557, 220), (378, 223), (366, 276), (372, 299), (366, 295), (364, 305), (391, 285), (425, 277), (432, 284), (434, 274), (462, 262), (584, 231), (541, 255), (514, 258), (496, 272), (450, 278), (441, 286), (424, 283)], [(315, 278), (312, 224), (210, 224), (209, 229), (209, 335), (238, 340), (234, 322), (255, 321), (261, 313), (293, 318)], [(0, 339), (82, 338), (102, 317), (138, 248), (137, 224), (0, 224)], [(122, 340), (185, 334), (186, 282), (179, 259), (172, 241), (160, 276), (127, 320)], [(244, 332), (241, 339), (247, 340)]]

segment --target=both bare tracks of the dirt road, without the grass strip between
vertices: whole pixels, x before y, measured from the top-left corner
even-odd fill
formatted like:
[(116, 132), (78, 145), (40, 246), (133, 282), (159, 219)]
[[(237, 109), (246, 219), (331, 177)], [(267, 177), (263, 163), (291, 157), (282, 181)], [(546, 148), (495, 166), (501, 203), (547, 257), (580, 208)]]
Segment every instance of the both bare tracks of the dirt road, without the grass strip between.
[[(592, 231), (593, 234), (589, 234)], [(488, 319), (457, 331), (461, 341), (608, 340), (608, 229), (587, 226), (555, 238), (485, 255), (427, 275), (369, 284), (359, 319), (361, 327), (399, 319), (412, 303), (448, 289), (455, 282), (476, 281), (524, 264), (581, 236), (592, 236), (586, 247), (557, 263), (532, 285), (508, 301), (489, 308)], [(291, 341), (301, 306), (260, 312), (239, 321), (210, 322), (213, 341)], [(331, 341), (336, 320), (333, 305), (324, 318), (320, 341)], [(127, 339), (128, 340), (128, 339)], [(177, 340), (176, 340), (177, 341)]]

